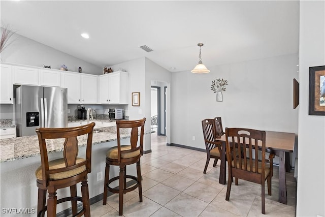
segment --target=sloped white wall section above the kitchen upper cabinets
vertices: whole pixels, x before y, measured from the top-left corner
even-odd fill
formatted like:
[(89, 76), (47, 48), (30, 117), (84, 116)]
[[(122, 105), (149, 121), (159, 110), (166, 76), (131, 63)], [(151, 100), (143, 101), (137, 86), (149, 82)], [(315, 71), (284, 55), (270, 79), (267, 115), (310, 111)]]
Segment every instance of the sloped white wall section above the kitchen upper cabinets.
[[(7, 63), (37, 67), (45, 65), (51, 66), (52, 69), (59, 69), (64, 64), (68, 67), (69, 71), (78, 72), (78, 68), (81, 67), (82, 73), (103, 74), (104, 66), (103, 68), (95, 66), (18, 34), (14, 34), (9, 39), (8, 44), (10, 45), (1, 52), (1, 61)], [(85, 50), (85, 52), (87, 51)]]

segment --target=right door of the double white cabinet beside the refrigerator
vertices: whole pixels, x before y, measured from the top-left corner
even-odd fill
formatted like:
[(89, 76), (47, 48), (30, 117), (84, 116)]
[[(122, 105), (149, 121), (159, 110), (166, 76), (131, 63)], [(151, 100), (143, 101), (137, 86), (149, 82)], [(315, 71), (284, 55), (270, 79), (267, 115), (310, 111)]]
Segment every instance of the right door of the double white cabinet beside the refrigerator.
[(81, 103), (97, 103), (97, 76), (80, 75), (81, 81)]

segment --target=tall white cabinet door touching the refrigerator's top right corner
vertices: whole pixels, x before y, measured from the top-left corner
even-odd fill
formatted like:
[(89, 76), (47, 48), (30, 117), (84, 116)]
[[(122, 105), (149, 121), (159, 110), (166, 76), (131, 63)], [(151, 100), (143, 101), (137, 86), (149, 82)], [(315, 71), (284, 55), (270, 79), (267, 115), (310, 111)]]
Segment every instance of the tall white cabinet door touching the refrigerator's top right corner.
[(61, 87), (68, 88), (68, 104), (80, 104), (80, 75), (73, 72), (62, 72)]

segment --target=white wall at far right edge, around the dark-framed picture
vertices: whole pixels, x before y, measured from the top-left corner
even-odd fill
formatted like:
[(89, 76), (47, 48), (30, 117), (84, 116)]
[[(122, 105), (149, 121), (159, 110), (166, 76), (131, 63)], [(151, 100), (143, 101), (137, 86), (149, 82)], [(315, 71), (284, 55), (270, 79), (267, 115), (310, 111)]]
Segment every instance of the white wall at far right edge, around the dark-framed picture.
[(325, 65), (325, 2), (300, 1), (297, 216), (325, 216), (325, 116), (308, 115), (309, 67)]

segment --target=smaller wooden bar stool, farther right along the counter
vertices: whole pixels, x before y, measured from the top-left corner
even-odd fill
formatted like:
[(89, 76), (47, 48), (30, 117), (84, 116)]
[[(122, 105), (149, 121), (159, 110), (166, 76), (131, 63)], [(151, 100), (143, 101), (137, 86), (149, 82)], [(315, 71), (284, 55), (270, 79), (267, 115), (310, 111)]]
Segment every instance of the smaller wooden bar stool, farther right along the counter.
[[(123, 194), (131, 192), (139, 188), (139, 198), (142, 202), (142, 185), (141, 185), (141, 169), (140, 157), (143, 154), (143, 135), (144, 123), (146, 118), (140, 120), (116, 120), (117, 130), (117, 146), (108, 149), (106, 152), (106, 167), (105, 167), (105, 181), (104, 181), (104, 200), (106, 204), (107, 190), (112, 193), (119, 194), (119, 215), (123, 214)], [(139, 139), (140, 128), (140, 141)], [(120, 130), (131, 129), (130, 145), (121, 145)], [(138, 142), (139, 141), (139, 142)], [(137, 176), (126, 175), (126, 165), (137, 163)], [(119, 176), (109, 178), (110, 165), (119, 166)], [(132, 187), (126, 188), (126, 178), (136, 181)], [(113, 189), (109, 184), (115, 180), (119, 180), (118, 189)]]

